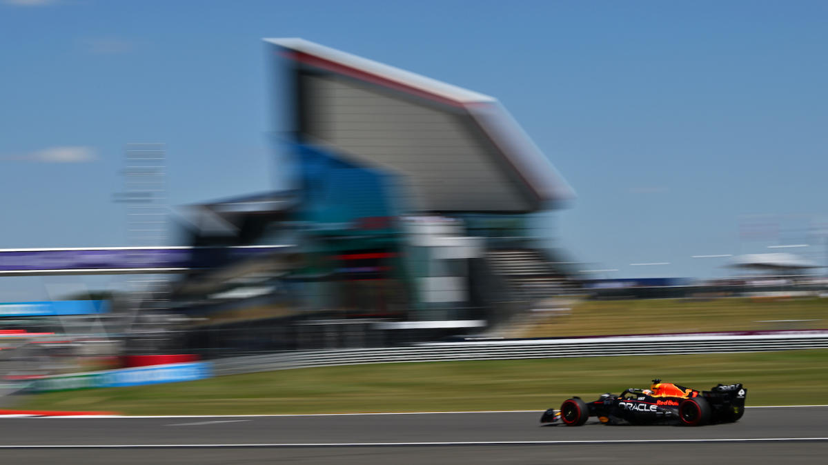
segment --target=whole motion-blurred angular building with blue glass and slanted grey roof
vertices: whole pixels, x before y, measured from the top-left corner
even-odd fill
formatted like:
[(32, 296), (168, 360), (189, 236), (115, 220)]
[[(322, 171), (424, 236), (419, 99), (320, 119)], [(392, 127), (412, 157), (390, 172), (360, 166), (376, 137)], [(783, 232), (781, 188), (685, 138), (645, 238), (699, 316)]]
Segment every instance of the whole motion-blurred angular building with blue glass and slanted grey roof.
[(565, 260), (532, 221), (572, 190), (496, 99), (301, 39), (266, 43), (292, 185), (190, 205), (185, 229), (212, 251), (281, 248), (172, 285), (189, 348), (482, 332), (566, 290)]

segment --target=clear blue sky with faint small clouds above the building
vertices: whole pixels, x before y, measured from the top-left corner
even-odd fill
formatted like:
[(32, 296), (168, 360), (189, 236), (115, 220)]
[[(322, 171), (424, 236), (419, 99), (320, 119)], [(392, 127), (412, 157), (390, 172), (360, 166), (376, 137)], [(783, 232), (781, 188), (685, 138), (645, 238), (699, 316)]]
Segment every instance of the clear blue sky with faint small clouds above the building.
[(0, 0), (0, 247), (124, 245), (128, 142), (166, 142), (171, 204), (272, 188), (260, 39), (301, 36), (500, 99), (577, 191), (554, 232), (588, 268), (824, 256), (826, 22), (804, 1)]

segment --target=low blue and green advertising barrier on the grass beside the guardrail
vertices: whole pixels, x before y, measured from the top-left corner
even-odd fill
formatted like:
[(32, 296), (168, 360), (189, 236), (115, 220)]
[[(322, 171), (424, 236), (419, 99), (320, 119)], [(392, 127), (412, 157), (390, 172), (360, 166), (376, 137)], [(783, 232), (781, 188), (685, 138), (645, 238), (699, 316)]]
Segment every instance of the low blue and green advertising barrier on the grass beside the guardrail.
[(33, 381), (31, 392), (69, 391), (95, 387), (142, 386), (163, 382), (195, 381), (211, 376), (209, 362), (170, 363), (151, 367), (46, 376)]

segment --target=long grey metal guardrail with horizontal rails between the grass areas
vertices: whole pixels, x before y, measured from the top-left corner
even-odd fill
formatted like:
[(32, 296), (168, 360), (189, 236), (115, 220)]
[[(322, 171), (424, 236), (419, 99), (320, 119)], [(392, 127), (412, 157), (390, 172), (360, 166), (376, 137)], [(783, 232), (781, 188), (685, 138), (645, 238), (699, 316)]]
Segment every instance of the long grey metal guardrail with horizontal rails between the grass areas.
[(277, 352), (213, 361), (216, 376), (364, 363), (449, 362), (520, 358), (677, 355), (828, 348), (828, 333), (750, 336), (566, 338), (421, 343), (398, 348)]

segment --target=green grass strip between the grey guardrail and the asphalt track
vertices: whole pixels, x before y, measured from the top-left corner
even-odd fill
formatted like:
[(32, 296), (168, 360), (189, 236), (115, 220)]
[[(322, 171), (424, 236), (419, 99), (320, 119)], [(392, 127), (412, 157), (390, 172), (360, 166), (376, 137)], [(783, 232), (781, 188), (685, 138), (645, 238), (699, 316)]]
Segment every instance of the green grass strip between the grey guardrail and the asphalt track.
[(742, 382), (748, 405), (824, 404), (828, 350), (306, 368), (27, 395), (18, 407), (128, 415), (543, 410), (653, 377), (696, 389)]

